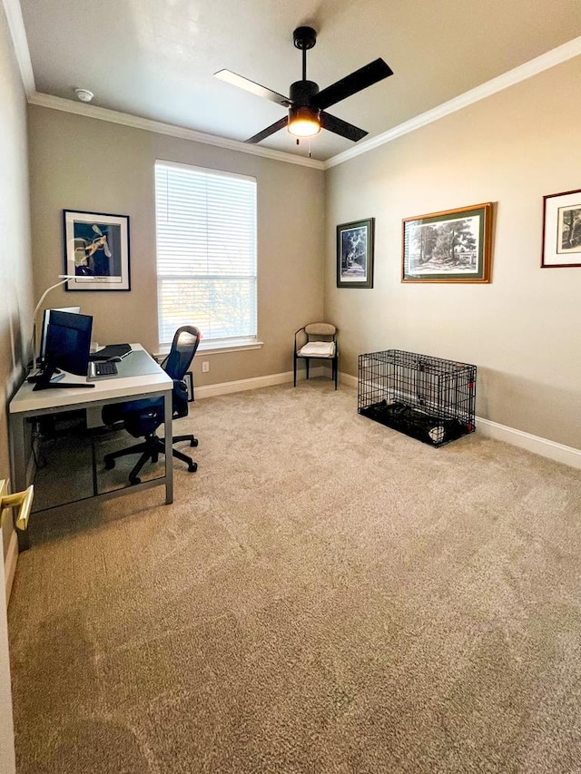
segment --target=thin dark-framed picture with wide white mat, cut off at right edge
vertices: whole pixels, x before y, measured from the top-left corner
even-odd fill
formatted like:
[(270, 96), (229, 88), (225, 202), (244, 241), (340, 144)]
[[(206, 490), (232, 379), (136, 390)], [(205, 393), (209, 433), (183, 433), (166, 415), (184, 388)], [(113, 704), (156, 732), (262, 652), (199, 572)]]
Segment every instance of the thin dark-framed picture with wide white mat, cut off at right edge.
[(581, 191), (543, 197), (541, 269), (581, 266)]

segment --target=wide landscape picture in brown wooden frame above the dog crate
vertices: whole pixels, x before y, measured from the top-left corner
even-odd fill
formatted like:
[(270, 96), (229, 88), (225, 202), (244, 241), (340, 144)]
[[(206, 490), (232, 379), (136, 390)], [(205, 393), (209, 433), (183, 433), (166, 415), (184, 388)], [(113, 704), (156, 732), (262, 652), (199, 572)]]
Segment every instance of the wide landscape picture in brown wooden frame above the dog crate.
[(402, 282), (489, 282), (492, 203), (403, 220)]

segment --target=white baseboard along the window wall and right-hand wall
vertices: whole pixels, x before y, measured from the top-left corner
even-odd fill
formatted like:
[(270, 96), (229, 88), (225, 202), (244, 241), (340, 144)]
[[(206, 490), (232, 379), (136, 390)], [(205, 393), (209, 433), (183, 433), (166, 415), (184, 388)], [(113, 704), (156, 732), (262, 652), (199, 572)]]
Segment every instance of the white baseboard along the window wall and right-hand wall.
[[(326, 367), (312, 368), (310, 373), (313, 377), (320, 377), (326, 376), (329, 373), (329, 370), (330, 369)], [(304, 374), (300, 374), (300, 378), (303, 377)], [(349, 387), (357, 387), (357, 377), (352, 377), (350, 374), (340, 373), (339, 380), (340, 384)], [(240, 392), (245, 389), (272, 387), (273, 385), (281, 385), (291, 381), (291, 371), (283, 374), (273, 374), (269, 377), (240, 379), (239, 381), (223, 382), (222, 384), (210, 385), (208, 387), (196, 387), (196, 397), (226, 395), (227, 393)], [(519, 448), (526, 449), (534, 454), (547, 457), (547, 459), (552, 459), (555, 460), (555, 462), (560, 462), (563, 463), (563, 465), (569, 465), (570, 467), (581, 470), (581, 450), (576, 449), (573, 446), (565, 446), (564, 444), (557, 444), (555, 441), (549, 441), (547, 438), (532, 436), (530, 433), (525, 433), (523, 430), (517, 430), (515, 427), (508, 427), (506, 425), (499, 425), (497, 422), (492, 422), (490, 419), (484, 419), (481, 416), (476, 417), (476, 426), (477, 432), (487, 438), (504, 441), (511, 446), (518, 446)]]

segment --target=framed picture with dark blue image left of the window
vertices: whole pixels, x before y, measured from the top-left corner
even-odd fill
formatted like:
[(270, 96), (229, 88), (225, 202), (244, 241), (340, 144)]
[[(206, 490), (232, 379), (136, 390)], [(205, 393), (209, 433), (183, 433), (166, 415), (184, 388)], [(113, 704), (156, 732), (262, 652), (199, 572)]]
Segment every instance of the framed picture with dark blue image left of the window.
[(63, 211), (67, 290), (130, 290), (129, 216)]

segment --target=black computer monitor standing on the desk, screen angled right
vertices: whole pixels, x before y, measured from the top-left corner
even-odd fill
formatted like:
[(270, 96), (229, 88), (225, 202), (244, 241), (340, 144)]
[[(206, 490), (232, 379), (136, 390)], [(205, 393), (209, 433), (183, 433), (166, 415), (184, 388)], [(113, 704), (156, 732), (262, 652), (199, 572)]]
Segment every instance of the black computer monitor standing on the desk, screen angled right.
[(93, 318), (71, 312), (51, 312), (46, 328), (45, 354), (50, 367), (86, 377)]

